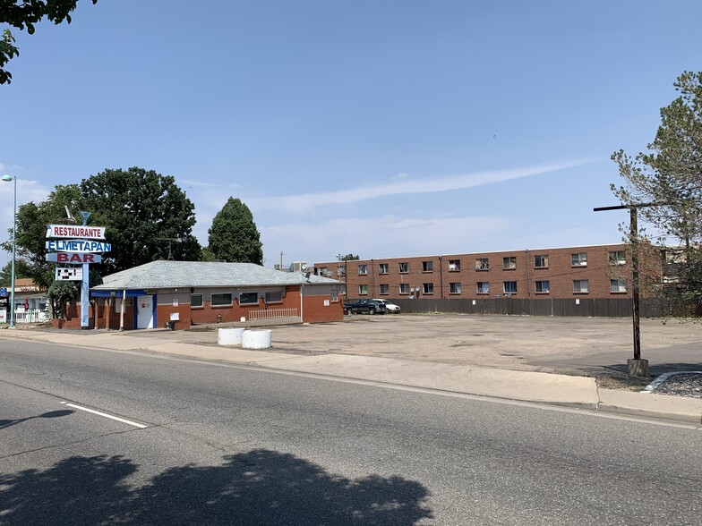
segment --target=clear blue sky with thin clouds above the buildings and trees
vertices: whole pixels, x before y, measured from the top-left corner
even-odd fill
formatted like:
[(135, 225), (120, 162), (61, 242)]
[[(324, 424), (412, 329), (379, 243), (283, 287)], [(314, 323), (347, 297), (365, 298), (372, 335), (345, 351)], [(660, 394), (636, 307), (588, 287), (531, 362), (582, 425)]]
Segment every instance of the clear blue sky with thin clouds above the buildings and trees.
[(619, 242), (626, 212), (592, 211), (617, 204), (610, 156), (702, 69), (699, 20), (698, 0), (81, 0), (14, 31), (0, 172), (18, 204), (173, 175), (204, 245), (234, 196), (267, 267)]

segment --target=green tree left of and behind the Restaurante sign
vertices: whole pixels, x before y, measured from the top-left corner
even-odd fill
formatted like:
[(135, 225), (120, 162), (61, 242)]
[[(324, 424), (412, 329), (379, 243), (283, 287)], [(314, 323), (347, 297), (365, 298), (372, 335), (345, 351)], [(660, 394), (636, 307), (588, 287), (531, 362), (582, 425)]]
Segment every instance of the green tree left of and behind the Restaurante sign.
[[(53, 263), (47, 263), (47, 225), (63, 221), (65, 208), (80, 208), (81, 189), (77, 184), (58, 185), (39, 204), (29, 202), (17, 208), (17, 267), (23, 266), (34, 283), (48, 287), (54, 281)], [(12, 232), (12, 230), (10, 231)], [(2, 243), (4, 250), (12, 250), (12, 241)]]

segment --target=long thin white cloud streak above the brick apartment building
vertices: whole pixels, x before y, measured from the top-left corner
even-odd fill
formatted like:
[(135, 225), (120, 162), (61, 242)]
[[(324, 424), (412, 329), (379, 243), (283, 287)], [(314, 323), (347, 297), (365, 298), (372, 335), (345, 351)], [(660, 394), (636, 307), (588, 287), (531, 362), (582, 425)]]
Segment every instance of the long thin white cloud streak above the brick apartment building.
[(284, 197), (269, 197), (265, 199), (248, 199), (252, 208), (275, 209), (278, 211), (287, 210), (302, 214), (312, 210), (312, 208), (355, 203), (366, 199), (387, 197), (390, 195), (435, 193), (441, 191), (460, 190), (484, 186), (496, 182), (509, 181), (521, 177), (547, 174), (558, 170), (572, 168), (574, 166), (585, 165), (585, 160), (568, 161), (551, 165), (537, 165), (526, 168), (515, 168), (512, 170), (501, 170), (494, 172), (478, 172), (475, 174), (452, 175), (436, 177), (433, 179), (411, 179), (400, 178), (387, 184), (375, 184), (361, 186), (340, 191), (327, 191), (318, 193), (305, 193)]

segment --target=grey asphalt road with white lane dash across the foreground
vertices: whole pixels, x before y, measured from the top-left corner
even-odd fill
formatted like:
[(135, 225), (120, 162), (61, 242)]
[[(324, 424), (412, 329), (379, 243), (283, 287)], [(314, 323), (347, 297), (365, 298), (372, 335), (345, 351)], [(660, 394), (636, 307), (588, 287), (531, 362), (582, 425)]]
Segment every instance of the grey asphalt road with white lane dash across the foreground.
[(702, 434), (689, 428), (2, 338), (0, 399), (0, 524), (702, 513)]

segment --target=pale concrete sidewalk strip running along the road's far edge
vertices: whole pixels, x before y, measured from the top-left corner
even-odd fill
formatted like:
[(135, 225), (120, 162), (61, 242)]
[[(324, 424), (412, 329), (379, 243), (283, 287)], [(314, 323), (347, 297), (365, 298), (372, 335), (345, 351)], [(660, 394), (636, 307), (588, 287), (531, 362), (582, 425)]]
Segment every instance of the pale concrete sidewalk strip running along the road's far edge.
[[(412, 386), (467, 395), (490, 396), (530, 403), (557, 404), (592, 411), (675, 420), (702, 429), (702, 400), (598, 388), (595, 378), (544, 372), (490, 369), (474, 365), (412, 361), (336, 352), (277, 352), (276, 329), (271, 349), (252, 351), (237, 346), (193, 343), (192, 335), (163, 329), (116, 332), (53, 331), (20, 328), (0, 331), (6, 339), (29, 339), (118, 352), (153, 352), (264, 369), (295, 371), (329, 378), (363, 380), (378, 385)], [(216, 333), (210, 331), (206, 338)], [(187, 341), (190, 339), (191, 341)]]

